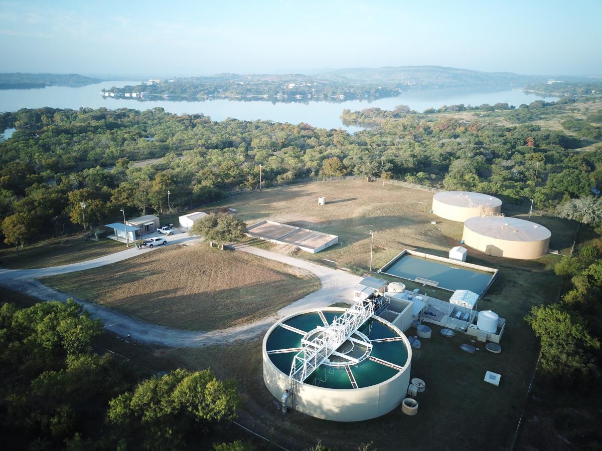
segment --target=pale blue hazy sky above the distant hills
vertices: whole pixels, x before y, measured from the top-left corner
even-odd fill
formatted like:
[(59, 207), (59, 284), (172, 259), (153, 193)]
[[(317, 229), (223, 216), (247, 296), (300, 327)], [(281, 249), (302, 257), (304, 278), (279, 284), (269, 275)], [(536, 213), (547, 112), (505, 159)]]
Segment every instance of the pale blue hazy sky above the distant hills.
[(602, 74), (602, 0), (3, 1), (0, 72)]

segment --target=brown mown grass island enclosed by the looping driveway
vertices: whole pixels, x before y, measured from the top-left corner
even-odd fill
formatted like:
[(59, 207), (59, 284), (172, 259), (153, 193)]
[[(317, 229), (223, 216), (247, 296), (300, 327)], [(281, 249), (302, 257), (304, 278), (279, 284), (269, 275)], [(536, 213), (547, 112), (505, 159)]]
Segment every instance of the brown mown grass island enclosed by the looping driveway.
[(320, 287), (317, 277), (301, 269), (205, 243), (42, 281), (135, 318), (185, 330), (264, 318)]

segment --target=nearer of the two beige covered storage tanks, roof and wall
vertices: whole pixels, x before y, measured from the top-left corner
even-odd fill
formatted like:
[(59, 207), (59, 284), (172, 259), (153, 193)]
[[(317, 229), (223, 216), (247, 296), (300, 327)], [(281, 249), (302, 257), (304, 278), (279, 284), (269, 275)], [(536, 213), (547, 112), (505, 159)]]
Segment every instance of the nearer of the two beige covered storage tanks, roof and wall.
[(550, 230), (504, 216), (477, 216), (464, 222), (464, 244), (495, 257), (538, 259), (548, 253)]

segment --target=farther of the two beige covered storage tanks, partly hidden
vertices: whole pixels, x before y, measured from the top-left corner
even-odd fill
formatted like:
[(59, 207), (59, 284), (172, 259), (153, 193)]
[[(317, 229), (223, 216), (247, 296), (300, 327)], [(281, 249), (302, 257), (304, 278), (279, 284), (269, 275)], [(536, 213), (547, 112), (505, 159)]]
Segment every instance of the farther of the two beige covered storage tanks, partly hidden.
[(443, 191), (433, 195), (432, 209), (439, 218), (464, 222), (474, 216), (499, 213), (501, 200), (479, 192)]

